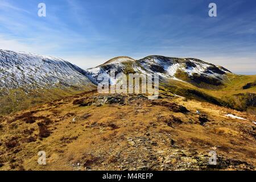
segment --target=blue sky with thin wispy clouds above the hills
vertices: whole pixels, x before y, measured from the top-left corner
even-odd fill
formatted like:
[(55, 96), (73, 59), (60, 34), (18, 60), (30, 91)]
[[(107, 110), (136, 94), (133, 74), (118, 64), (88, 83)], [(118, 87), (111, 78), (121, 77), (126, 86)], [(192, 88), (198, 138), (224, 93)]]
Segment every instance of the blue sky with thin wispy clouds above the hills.
[[(38, 16), (38, 4), (47, 16)], [(217, 5), (217, 17), (208, 5)], [(256, 74), (254, 0), (0, 0), (0, 48), (82, 68), (115, 56), (196, 57)]]

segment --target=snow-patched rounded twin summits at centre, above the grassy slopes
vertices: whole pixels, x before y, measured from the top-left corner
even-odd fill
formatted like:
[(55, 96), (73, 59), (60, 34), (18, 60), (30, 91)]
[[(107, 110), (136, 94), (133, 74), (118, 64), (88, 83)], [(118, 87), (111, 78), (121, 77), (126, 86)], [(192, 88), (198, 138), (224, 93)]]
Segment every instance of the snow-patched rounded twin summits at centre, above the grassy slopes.
[(116, 73), (157, 73), (162, 78), (205, 82), (212, 85), (220, 84), (225, 74), (230, 73), (228, 69), (198, 59), (164, 56), (148, 56), (136, 61), (130, 57), (115, 57), (105, 64), (88, 69), (88, 72), (97, 79), (100, 73), (109, 73), (110, 69), (115, 70)]

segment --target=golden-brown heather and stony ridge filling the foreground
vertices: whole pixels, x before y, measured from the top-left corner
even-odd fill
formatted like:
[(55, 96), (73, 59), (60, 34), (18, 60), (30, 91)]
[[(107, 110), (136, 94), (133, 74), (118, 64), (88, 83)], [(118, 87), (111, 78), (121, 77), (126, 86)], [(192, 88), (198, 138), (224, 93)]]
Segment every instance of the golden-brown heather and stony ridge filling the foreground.
[[(1, 117), (0, 169), (255, 170), (253, 121), (181, 97), (86, 92)], [(37, 163), (39, 151), (46, 165)], [(216, 166), (209, 151), (217, 152)]]

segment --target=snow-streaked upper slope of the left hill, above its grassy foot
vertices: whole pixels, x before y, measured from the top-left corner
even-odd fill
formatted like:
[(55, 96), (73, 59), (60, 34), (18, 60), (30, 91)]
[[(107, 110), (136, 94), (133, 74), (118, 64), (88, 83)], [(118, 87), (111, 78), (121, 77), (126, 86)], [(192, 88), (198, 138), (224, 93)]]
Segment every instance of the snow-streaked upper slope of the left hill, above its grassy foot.
[(85, 85), (92, 85), (86, 71), (67, 61), (0, 49), (0, 88), (35, 89)]

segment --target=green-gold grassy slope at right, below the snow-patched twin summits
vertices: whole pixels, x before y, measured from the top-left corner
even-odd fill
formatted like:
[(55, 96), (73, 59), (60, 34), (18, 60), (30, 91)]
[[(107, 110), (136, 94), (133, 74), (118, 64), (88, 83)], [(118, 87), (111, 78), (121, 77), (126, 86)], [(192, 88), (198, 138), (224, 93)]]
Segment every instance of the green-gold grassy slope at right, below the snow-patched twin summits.
[(188, 99), (206, 101), (237, 110), (247, 110), (256, 114), (256, 86), (253, 84), (256, 75), (228, 73), (222, 85), (204, 83), (203, 88), (189, 83), (186, 77), (180, 76), (180, 78), (184, 81), (164, 80), (161, 84), (162, 93), (172, 92)]

